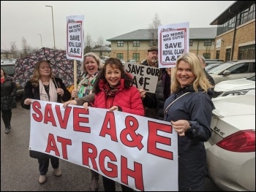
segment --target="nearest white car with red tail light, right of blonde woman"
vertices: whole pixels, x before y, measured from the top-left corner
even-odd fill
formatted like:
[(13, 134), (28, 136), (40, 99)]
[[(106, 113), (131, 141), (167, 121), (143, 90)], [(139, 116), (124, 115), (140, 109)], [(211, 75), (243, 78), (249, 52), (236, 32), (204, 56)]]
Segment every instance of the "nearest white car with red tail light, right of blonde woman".
[(212, 101), (208, 175), (222, 191), (255, 191), (255, 94)]

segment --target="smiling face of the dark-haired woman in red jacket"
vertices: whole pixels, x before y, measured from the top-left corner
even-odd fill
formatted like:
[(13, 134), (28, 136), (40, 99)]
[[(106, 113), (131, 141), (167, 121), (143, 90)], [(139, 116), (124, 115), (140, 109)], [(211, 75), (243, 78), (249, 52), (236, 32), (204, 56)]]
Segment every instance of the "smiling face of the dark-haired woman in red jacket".
[(105, 78), (108, 81), (110, 87), (114, 88), (121, 80), (121, 70), (115, 68), (113, 64), (107, 64)]

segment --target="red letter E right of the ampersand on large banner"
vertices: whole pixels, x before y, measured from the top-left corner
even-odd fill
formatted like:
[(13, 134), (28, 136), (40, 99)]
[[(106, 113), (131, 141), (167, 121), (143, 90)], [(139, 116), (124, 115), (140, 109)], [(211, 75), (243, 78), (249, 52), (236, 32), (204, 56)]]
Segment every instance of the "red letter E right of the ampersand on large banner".
[[(149, 131), (150, 130), (150, 131)], [(157, 143), (162, 143), (164, 145), (171, 145), (169, 137), (162, 137), (157, 134), (157, 131), (164, 131), (166, 133), (172, 133), (172, 126), (165, 125), (162, 123), (156, 123), (148, 120), (148, 153), (157, 155), (162, 158), (167, 158), (173, 160), (173, 152), (167, 150), (161, 150), (157, 148)]]

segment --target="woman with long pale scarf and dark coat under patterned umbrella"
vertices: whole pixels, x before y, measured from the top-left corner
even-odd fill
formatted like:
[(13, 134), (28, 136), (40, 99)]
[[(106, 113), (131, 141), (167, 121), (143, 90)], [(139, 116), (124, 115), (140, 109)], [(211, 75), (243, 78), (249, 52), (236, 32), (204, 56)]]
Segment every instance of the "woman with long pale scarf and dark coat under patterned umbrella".
[[(34, 74), (31, 79), (26, 82), (24, 88), (23, 99), (20, 104), (26, 110), (30, 110), (31, 99), (38, 99), (42, 101), (59, 102), (68, 101), (71, 99), (71, 94), (67, 91), (61, 79), (53, 76), (48, 61), (38, 61)], [(59, 169), (59, 158), (45, 153), (30, 150), (31, 158), (37, 158), (39, 163), (39, 183), (45, 183), (46, 173), (48, 172), (49, 161), (53, 166), (53, 173), (59, 177), (61, 176), (61, 169)]]

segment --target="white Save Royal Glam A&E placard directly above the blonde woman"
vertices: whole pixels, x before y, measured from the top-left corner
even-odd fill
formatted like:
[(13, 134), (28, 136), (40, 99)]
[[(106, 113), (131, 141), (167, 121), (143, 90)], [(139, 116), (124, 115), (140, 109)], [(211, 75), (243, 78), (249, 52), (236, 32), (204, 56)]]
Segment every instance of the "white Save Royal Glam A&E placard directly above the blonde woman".
[(158, 66), (174, 67), (179, 55), (189, 52), (189, 23), (158, 26), (158, 35)]

